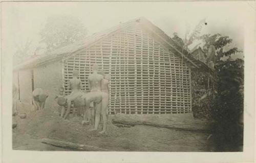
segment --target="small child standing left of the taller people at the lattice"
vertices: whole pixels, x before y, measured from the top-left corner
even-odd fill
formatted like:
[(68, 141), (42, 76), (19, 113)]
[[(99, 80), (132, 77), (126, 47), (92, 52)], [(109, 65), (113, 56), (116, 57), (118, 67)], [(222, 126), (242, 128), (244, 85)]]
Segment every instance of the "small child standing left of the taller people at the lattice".
[(61, 118), (63, 118), (64, 113), (65, 113), (65, 107), (67, 105), (67, 98), (64, 94), (64, 88), (63, 87), (59, 87), (59, 95), (56, 96), (55, 99), (57, 99), (57, 103), (58, 103), (59, 116)]

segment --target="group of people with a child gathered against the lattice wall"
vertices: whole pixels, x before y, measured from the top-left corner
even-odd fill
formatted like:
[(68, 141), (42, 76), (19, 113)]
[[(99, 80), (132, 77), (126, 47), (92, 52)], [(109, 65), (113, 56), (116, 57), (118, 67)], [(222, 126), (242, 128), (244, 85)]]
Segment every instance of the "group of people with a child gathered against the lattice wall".
[[(83, 110), (82, 124), (89, 124), (92, 120), (94, 128), (91, 130), (97, 130), (99, 121), (102, 121), (103, 129), (100, 133), (106, 131), (107, 123), (107, 109), (109, 104), (109, 75), (104, 75), (102, 72), (98, 72), (98, 65), (92, 66), (93, 73), (88, 77), (89, 92), (82, 92), (82, 83), (78, 79), (79, 72), (75, 69), (73, 71), (73, 78), (69, 81), (69, 87), (71, 94), (65, 96), (64, 88), (59, 89), (59, 95), (55, 98), (59, 105), (60, 117), (67, 119), (70, 114), (71, 104), (74, 103), (74, 107), (81, 107)], [(93, 103), (93, 111), (91, 113), (90, 106)], [(65, 110), (67, 111), (65, 113)]]

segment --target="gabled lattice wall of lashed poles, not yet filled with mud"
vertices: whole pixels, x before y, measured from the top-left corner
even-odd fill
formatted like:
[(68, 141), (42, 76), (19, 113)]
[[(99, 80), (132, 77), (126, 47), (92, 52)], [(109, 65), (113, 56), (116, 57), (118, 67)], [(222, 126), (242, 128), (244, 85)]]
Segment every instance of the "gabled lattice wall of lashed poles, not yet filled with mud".
[(73, 69), (88, 88), (91, 66), (111, 74), (111, 113), (152, 114), (191, 111), (190, 70), (186, 64), (139, 27), (124, 29), (68, 59), (66, 94)]

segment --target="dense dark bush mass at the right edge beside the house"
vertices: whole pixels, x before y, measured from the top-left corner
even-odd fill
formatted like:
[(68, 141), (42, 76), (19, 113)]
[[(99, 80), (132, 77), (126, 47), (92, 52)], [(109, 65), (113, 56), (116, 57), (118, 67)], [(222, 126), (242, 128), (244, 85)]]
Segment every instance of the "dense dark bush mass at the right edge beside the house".
[(243, 145), (244, 62), (220, 61), (216, 65), (217, 97), (211, 101), (210, 117), (216, 151), (241, 151)]

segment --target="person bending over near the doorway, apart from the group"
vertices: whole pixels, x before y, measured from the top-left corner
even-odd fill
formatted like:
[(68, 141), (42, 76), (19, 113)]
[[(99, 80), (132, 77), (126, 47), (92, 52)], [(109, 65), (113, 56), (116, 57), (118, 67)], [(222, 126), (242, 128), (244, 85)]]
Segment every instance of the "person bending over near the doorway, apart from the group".
[(44, 109), (47, 98), (48, 98), (48, 95), (44, 90), (42, 90), (41, 88), (36, 88), (32, 92), (32, 101), (33, 101), (34, 109), (35, 110)]

